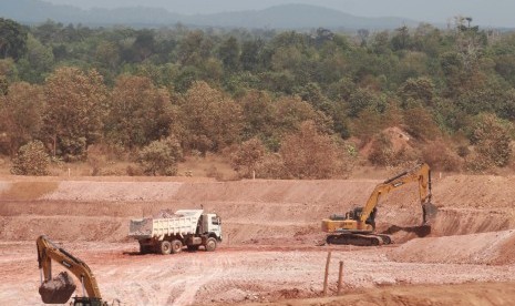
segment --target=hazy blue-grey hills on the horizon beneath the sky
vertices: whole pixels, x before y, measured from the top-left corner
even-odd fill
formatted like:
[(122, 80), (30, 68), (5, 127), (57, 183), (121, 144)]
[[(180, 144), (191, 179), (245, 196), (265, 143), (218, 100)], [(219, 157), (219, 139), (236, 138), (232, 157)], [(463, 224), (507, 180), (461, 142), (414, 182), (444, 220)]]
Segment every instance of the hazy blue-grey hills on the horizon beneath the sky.
[(416, 21), (400, 18), (362, 18), (338, 10), (307, 4), (285, 4), (259, 11), (238, 11), (215, 14), (185, 16), (164, 9), (132, 7), (83, 10), (72, 6), (56, 6), (41, 0), (3, 1), (0, 16), (22, 23), (40, 23), (48, 19), (62, 23), (89, 26), (124, 24), (131, 27), (162, 27), (176, 23), (189, 27), (271, 28), (340, 30), (395, 29), (415, 26)]

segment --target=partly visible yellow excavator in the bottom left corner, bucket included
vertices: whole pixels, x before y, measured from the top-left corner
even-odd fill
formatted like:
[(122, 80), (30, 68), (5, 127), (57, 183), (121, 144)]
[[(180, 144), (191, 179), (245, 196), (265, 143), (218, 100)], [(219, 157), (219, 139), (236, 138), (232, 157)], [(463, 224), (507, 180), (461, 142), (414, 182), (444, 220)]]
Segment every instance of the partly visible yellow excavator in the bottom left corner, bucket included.
[[(38, 247), (38, 263), (41, 275), (39, 293), (44, 304), (64, 304), (75, 292), (75, 284), (66, 272), (52, 278), (52, 261), (61, 264), (82, 283), (83, 296), (75, 296), (74, 306), (106, 306), (90, 267), (78, 257), (58, 246), (45, 235), (35, 241)], [(87, 296), (84, 295), (84, 290)]]

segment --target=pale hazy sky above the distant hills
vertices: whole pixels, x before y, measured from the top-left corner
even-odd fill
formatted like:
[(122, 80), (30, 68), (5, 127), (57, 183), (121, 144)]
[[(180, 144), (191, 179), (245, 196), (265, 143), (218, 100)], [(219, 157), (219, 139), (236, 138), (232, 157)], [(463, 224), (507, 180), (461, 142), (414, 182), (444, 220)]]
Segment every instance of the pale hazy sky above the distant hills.
[[(4, 1), (4, 0), (3, 0)], [(515, 28), (514, 0), (44, 0), (92, 7), (157, 7), (184, 14), (261, 10), (284, 3), (307, 3), (361, 17), (402, 17), (446, 23), (455, 16), (472, 17), (473, 24)]]

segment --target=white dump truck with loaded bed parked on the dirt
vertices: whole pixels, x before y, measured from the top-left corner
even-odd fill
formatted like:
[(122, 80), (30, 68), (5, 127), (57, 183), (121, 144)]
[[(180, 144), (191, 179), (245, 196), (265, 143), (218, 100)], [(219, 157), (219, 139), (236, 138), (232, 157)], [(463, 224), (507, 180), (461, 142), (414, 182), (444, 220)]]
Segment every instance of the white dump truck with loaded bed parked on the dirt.
[(212, 252), (222, 242), (222, 218), (204, 210), (179, 210), (158, 218), (133, 218), (128, 236), (140, 243), (140, 253), (176, 254), (184, 247)]

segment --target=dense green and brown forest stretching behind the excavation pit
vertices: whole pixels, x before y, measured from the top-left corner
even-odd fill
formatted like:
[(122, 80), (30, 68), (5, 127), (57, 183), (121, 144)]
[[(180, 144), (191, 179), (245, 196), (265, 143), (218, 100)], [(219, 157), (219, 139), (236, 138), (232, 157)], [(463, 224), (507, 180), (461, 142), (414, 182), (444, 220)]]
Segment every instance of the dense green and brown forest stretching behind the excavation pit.
[(0, 19), (0, 154), (14, 174), (107, 156), (175, 175), (206, 154), (243, 177), (513, 167), (515, 33), (472, 21), (349, 34)]

